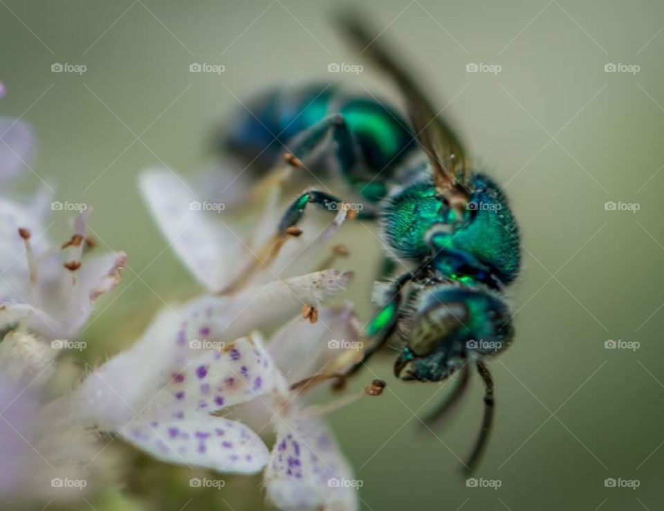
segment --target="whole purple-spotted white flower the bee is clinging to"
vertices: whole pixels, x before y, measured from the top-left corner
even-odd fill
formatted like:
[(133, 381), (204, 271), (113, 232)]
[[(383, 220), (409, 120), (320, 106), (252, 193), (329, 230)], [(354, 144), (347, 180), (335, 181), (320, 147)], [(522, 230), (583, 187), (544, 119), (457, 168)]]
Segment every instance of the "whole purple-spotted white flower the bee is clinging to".
[[(349, 304), (322, 306), (344, 289), (349, 272), (288, 276), (313, 263), (321, 239), (338, 229), (345, 212), (322, 232), (312, 230), (315, 236), (288, 241), (277, 254), (261, 250), (286, 241), (270, 245), (279, 219), (277, 189), (254, 236), (245, 241), (237, 224), (214, 219), (171, 171), (149, 171), (141, 186), (170, 245), (216, 294), (160, 313), (138, 342), (75, 390), (72, 414), (116, 431), (161, 461), (223, 473), (265, 470), (268, 499), (281, 509), (356, 509), (356, 490), (331, 483), (352, 479), (351, 467), (320, 414), (304, 407), (290, 387), (335, 371), (341, 352), (328, 349), (330, 340), (357, 338)], [(284, 324), (303, 304), (316, 307), (317, 322), (298, 315), (264, 343), (256, 329)], [(221, 416), (230, 408), (246, 420)], [(259, 417), (266, 421), (251, 427)], [(268, 426), (277, 434), (271, 451), (259, 437)]]

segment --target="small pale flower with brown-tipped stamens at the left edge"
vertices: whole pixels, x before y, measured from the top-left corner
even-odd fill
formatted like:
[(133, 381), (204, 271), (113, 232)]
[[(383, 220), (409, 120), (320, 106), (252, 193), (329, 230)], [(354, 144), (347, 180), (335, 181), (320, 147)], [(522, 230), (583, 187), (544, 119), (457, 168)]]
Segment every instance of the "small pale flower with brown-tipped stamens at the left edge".
[(127, 256), (84, 256), (86, 212), (71, 239), (52, 245), (50, 198), (45, 190), (28, 203), (0, 197), (0, 326), (21, 322), (53, 339), (77, 333), (95, 299), (118, 284)]

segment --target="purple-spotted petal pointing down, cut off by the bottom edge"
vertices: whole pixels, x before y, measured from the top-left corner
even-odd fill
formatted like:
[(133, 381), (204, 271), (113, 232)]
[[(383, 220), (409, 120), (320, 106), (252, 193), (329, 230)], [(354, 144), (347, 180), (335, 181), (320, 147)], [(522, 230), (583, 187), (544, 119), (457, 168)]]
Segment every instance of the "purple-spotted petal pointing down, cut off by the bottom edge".
[(264, 483), (277, 508), (358, 509), (351, 467), (320, 418), (298, 411), (277, 422), (276, 430)]

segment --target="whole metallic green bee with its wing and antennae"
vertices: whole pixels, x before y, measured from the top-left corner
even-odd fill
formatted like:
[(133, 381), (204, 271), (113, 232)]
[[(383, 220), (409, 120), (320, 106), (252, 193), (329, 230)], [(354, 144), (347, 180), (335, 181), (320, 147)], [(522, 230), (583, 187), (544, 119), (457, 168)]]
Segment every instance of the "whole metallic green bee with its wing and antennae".
[(416, 82), (380, 44), (366, 21), (343, 17), (341, 27), (403, 95), (407, 120), (373, 95), (335, 86), (273, 90), (249, 103), (221, 146), (269, 169), (288, 154), (293, 165), (337, 176), (342, 199), (316, 189), (288, 207), (279, 233), (297, 231), (306, 207), (338, 210), (354, 199), (365, 219), (379, 219), (391, 257), (411, 268), (378, 292), (380, 308), (366, 327), (371, 346), (344, 376), (360, 370), (386, 342), (397, 342), (394, 373), (402, 380), (440, 382), (459, 371), (456, 386), (425, 422), (445, 416), (476, 366), (486, 392), (481, 431), (464, 463), (470, 472), (486, 447), (494, 411), (485, 360), (513, 339), (505, 286), (521, 259), (515, 218), (501, 189), (468, 168), (461, 141)]

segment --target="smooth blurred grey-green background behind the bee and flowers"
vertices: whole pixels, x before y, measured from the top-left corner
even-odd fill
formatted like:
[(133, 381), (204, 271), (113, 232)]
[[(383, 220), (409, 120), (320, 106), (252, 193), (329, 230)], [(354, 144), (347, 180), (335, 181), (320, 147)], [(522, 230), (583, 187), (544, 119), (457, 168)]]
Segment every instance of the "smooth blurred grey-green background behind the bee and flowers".
[[(127, 346), (163, 300), (199, 291), (140, 200), (140, 169), (165, 162), (193, 175), (210, 156), (214, 124), (268, 84), (342, 80), (394, 97), (331, 28), (335, 1), (0, 3), (0, 80), (8, 91), (0, 112), (35, 127), (33, 169), (57, 184), (58, 200), (94, 205), (91, 226), (102, 245), (129, 253), (124, 282), (84, 333), (91, 362)], [(436, 102), (450, 102), (445, 114), (475, 160), (507, 183), (524, 243), (522, 279), (511, 290), (517, 342), (491, 363), (496, 426), (477, 472), (501, 487), (466, 487), (458, 471), (457, 456), (466, 456), (481, 420), (479, 379), (436, 438), (414, 415), (445, 391), (397, 382), (385, 356), (371, 369), (389, 391), (331, 418), (364, 482), (363, 508), (662, 509), (664, 5), (365, 0), (362, 7), (386, 28), (381, 37), (412, 55)], [(87, 71), (52, 73), (56, 62)], [(223, 64), (225, 72), (190, 73), (193, 62)], [(332, 62), (365, 71), (330, 74)], [(472, 62), (502, 70), (467, 73)], [(640, 71), (606, 73), (608, 63)], [(39, 178), (28, 181), (26, 189)], [(607, 211), (606, 201), (640, 210)], [(64, 236), (65, 218), (55, 214), (54, 235)], [(349, 295), (366, 319), (380, 244), (359, 224), (341, 236), (358, 273)], [(605, 349), (607, 340), (640, 348)], [(264, 506), (259, 477), (228, 479), (219, 492), (195, 491), (189, 477), (136, 458), (127, 485), (80, 508)], [(640, 487), (605, 487), (609, 477), (638, 479)]]

